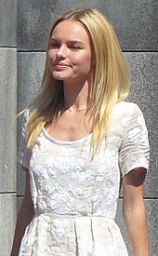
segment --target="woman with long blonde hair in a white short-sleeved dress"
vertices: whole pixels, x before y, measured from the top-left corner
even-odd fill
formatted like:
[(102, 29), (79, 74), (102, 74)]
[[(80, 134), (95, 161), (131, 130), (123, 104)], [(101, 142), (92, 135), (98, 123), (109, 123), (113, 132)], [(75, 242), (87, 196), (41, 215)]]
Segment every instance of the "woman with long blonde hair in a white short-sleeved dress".
[(43, 87), (25, 113), (26, 191), (12, 256), (128, 255), (114, 222), (121, 181), (134, 255), (150, 255), (148, 135), (138, 106), (125, 102), (129, 84), (112, 25), (98, 10), (73, 9), (54, 22)]

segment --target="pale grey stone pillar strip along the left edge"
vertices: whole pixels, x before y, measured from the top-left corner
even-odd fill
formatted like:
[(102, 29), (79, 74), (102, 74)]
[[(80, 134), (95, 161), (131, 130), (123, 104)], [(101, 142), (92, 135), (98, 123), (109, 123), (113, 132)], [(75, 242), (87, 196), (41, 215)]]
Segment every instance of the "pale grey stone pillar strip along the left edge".
[(17, 216), (17, 5), (0, 0), (0, 255), (8, 256)]

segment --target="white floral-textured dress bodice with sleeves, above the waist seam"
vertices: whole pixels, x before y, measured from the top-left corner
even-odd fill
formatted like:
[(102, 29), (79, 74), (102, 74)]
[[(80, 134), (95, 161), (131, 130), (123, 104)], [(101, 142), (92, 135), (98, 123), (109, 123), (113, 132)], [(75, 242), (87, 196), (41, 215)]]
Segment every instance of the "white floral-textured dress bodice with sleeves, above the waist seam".
[(91, 134), (58, 141), (42, 129), (32, 152), (23, 156), (36, 213), (114, 219), (121, 177), (133, 168), (148, 168), (148, 134), (138, 106), (115, 106), (110, 132), (93, 159), (90, 142)]

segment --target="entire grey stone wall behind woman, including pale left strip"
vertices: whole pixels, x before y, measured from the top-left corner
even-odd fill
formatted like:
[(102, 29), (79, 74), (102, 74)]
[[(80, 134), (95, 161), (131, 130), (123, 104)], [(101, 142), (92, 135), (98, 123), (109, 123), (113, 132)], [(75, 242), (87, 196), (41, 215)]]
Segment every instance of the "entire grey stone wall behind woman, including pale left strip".
[[(8, 3), (7, 3), (8, 2)], [(11, 2), (11, 1), (10, 1)], [(10, 226), (14, 227), (16, 206), (16, 171), (15, 171), (15, 107), (16, 107), (16, 1), (14, 4), (0, 0), (0, 218), (4, 220), (0, 229), (0, 248), (3, 256), (10, 249)], [(7, 3), (7, 4), (6, 4)], [(45, 64), (46, 36), (51, 21), (62, 11), (71, 7), (97, 7), (103, 12), (118, 35), (132, 73), (130, 101), (135, 101), (141, 108), (149, 129), (151, 144), (151, 164), (145, 184), (145, 202), (147, 206), (151, 256), (158, 253), (158, 8), (156, 0), (106, 0), (106, 1), (18, 1), (18, 111), (31, 101), (41, 87), (41, 78)], [(6, 13), (7, 15), (4, 15)], [(14, 15), (13, 15), (14, 14)], [(7, 16), (9, 19), (7, 19)], [(1, 21), (1, 17), (0, 17)], [(14, 32), (14, 33), (13, 33)], [(11, 66), (11, 67), (10, 67)], [(9, 126), (8, 126), (9, 124)], [(20, 130), (20, 124), (18, 126)], [(18, 132), (18, 144), (20, 138)], [(18, 203), (23, 196), (24, 174), (18, 170)], [(1, 199), (2, 198), (2, 199)], [(125, 234), (121, 214), (122, 195), (120, 195), (117, 222), (121, 227), (125, 241), (131, 249)], [(8, 209), (9, 208), (9, 209)], [(8, 212), (11, 212), (8, 216)], [(9, 228), (6, 228), (6, 226)], [(5, 243), (1, 247), (1, 237)], [(1, 255), (1, 252), (0, 252)]]

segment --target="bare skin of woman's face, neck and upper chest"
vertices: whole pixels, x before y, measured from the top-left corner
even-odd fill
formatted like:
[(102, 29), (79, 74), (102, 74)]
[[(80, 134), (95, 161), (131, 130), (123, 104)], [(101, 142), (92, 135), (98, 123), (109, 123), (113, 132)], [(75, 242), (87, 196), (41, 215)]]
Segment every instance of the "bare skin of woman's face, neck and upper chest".
[(54, 29), (47, 53), (53, 77), (63, 81), (65, 107), (49, 134), (60, 141), (75, 141), (90, 133), (86, 115), (92, 86), (93, 59), (88, 34), (77, 21), (61, 21)]

